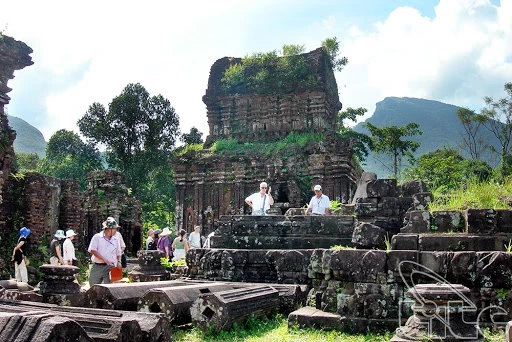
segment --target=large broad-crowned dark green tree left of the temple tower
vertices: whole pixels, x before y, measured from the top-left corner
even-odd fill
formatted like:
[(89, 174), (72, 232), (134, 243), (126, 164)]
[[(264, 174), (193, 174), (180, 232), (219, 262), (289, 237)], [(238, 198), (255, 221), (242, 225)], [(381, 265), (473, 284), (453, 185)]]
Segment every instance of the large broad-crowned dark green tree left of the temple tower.
[(172, 184), (170, 158), (180, 136), (179, 118), (169, 100), (150, 96), (139, 83), (128, 84), (108, 111), (93, 103), (78, 127), (89, 141), (105, 146), (109, 166), (126, 175), (136, 198), (150, 208), (164, 202), (174, 206), (167, 187), (155, 186), (156, 179)]

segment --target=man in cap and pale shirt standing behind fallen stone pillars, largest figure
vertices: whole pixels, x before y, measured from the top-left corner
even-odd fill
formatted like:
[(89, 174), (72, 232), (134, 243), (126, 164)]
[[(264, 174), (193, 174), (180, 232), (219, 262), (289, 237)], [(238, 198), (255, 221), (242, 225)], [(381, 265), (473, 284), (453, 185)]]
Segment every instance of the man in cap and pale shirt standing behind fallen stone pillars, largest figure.
[(101, 232), (96, 233), (89, 244), (88, 251), (92, 254), (92, 267), (89, 275), (89, 284), (109, 284), (110, 268), (121, 266), (120, 241), (117, 239), (116, 230), (119, 227), (113, 217), (107, 218), (101, 226)]

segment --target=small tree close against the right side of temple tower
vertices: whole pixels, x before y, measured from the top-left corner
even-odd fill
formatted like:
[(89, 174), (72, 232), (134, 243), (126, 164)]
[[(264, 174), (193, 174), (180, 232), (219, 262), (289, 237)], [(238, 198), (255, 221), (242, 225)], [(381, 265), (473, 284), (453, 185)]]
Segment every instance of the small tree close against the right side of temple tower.
[(363, 133), (358, 133), (345, 124), (346, 120), (357, 121), (358, 116), (363, 116), (368, 110), (366, 108), (347, 108), (338, 112), (336, 120), (336, 131), (341, 138), (352, 139), (354, 141), (354, 153), (361, 163), (364, 163), (370, 150), (373, 148), (372, 139)]

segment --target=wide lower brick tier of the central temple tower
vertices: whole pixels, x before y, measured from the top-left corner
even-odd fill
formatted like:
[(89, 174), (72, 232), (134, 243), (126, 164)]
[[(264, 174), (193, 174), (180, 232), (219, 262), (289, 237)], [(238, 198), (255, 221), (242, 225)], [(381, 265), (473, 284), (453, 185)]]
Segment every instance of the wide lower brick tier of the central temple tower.
[(355, 192), (358, 174), (348, 141), (333, 140), (308, 146), (296, 155), (219, 156), (207, 151), (189, 153), (174, 160), (176, 222), (192, 231), (203, 226), (212, 232), (222, 215), (248, 214), (244, 200), (259, 191), (259, 183), (272, 187), (274, 208), (282, 213), (302, 207), (313, 196), (315, 184), (340, 202)]

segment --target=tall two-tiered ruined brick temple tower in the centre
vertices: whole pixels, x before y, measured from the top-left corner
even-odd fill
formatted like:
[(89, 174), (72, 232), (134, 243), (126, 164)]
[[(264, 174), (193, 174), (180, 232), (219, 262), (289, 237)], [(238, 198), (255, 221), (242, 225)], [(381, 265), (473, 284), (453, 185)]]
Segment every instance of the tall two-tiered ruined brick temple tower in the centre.
[[(346, 202), (352, 197), (359, 168), (351, 141), (335, 133), (342, 106), (329, 57), (320, 48), (301, 57), (312, 85), (276, 82), (266, 85), (265, 92), (243, 86), (226, 90), (224, 72), (240, 59), (224, 57), (213, 64), (203, 97), (209, 125), (205, 147), (174, 160), (178, 229), (190, 232), (199, 224), (207, 234), (219, 216), (248, 213), (244, 199), (262, 181), (272, 187), (274, 207), (282, 212), (307, 204), (315, 184), (322, 184), (333, 200)], [(265, 144), (292, 132), (321, 133), (325, 139), (299, 150), (264, 152)], [(218, 139), (236, 139), (247, 153), (212, 152), (209, 147)]]

